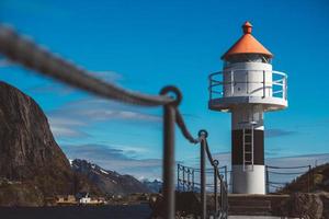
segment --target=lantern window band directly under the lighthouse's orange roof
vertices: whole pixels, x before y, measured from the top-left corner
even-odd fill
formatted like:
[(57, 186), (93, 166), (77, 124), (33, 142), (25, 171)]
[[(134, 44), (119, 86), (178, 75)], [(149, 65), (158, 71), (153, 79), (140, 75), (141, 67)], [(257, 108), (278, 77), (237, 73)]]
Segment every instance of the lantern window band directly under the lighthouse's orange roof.
[(232, 55), (225, 60), (225, 66), (238, 62), (263, 62), (271, 64), (271, 58), (261, 54), (239, 54)]

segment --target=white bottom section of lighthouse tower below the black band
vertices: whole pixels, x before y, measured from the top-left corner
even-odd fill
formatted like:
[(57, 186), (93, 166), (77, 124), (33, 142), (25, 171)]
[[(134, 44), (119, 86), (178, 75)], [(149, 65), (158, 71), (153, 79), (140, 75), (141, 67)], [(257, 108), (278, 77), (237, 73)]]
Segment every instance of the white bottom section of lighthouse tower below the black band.
[(265, 192), (264, 165), (232, 165), (232, 193), (262, 194)]

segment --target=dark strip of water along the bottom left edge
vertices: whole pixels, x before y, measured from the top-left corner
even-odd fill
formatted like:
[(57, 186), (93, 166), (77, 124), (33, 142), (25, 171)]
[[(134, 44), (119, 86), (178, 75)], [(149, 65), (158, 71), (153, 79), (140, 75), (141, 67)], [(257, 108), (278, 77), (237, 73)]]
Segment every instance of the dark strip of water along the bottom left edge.
[(1, 219), (147, 219), (148, 205), (0, 208)]

